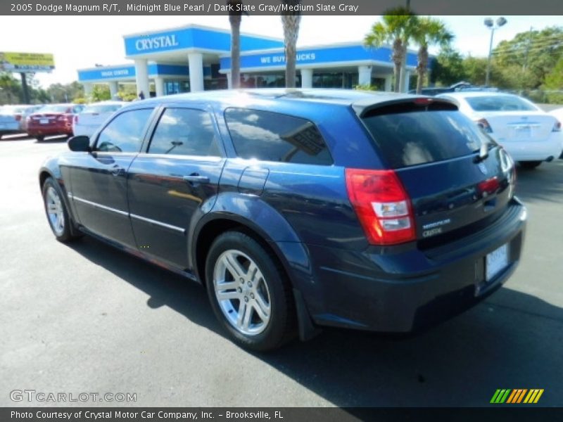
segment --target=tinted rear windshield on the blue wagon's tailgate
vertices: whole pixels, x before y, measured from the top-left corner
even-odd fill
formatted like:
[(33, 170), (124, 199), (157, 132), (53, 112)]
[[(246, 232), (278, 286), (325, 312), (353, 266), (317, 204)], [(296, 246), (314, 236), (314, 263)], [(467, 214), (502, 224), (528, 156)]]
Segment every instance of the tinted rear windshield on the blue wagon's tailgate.
[(493, 143), (459, 111), (413, 111), (362, 118), (383, 159), (393, 168), (462, 157)]

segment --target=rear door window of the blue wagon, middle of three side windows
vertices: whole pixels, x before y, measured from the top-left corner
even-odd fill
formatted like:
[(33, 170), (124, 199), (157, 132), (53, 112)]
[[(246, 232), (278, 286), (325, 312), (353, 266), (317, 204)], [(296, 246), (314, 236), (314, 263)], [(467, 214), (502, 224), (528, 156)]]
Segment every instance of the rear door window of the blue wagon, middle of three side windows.
[(167, 108), (158, 120), (148, 153), (220, 155), (210, 114), (190, 108)]

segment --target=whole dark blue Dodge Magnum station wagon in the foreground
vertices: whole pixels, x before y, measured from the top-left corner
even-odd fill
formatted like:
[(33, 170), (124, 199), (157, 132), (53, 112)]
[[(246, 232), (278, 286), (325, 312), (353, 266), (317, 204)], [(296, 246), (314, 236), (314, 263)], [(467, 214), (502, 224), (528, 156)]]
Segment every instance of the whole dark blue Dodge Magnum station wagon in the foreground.
[(59, 241), (101, 238), (202, 283), (236, 343), (406, 333), (519, 262), (514, 162), (455, 104), (341, 90), (137, 101), (39, 183)]

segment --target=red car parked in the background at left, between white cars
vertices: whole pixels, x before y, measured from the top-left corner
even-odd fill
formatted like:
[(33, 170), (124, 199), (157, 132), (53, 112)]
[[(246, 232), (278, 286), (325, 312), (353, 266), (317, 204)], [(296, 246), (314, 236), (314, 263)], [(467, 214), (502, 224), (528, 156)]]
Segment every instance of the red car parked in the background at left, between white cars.
[(72, 119), (82, 108), (80, 104), (48, 104), (27, 117), (27, 134), (39, 142), (45, 136), (72, 136)]

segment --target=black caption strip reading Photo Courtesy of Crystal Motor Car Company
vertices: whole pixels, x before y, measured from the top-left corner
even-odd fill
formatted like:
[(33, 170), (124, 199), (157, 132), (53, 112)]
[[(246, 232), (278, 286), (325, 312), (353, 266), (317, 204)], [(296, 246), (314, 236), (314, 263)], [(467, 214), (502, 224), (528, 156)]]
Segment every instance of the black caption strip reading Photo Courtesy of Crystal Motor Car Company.
[(560, 421), (562, 408), (498, 405), (487, 408), (373, 407), (4, 407), (2, 422), (347, 422)]

